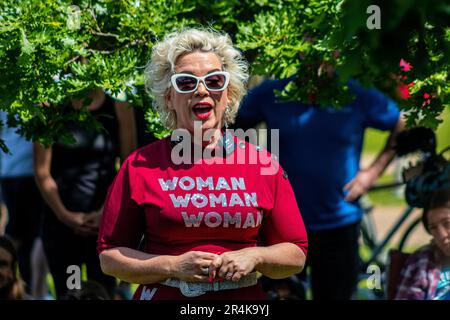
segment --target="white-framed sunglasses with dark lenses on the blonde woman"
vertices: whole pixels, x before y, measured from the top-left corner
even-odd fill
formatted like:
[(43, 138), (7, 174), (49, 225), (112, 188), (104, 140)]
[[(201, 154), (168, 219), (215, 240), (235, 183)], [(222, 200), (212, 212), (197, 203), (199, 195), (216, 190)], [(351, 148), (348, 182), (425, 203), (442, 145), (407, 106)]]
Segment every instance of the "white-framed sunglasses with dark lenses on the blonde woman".
[(226, 71), (215, 71), (204, 77), (196, 77), (188, 73), (174, 74), (170, 81), (178, 93), (194, 92), (201, 81), (209, 91), (223, 91), (230, 82), (230, 74)]

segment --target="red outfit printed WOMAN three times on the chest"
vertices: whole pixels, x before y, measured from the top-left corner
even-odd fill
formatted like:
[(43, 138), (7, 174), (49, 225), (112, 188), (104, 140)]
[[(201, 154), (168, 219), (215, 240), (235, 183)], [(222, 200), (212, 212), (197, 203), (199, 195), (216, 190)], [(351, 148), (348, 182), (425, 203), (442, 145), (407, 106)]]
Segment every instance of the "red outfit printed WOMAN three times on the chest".
[[(306, 231), (287, 174), (267, 151), (234, 139), (234, 152), (214, 158), (222, 164), (205, 163), (208, 160), (174, 164), (170, 137), (131, 154), (109, 189), (98, 251), (136, 249), (145, 235), (145, 252), (151, 254), (193, 250), (220, 254), (292, 242), (306, 255)], [(161, 284), (141, 285), (135, 298), (145, 296), (185, 298), (179, 289)], [(264, 295), (257, 285), (198, 298), (261, 299)]]

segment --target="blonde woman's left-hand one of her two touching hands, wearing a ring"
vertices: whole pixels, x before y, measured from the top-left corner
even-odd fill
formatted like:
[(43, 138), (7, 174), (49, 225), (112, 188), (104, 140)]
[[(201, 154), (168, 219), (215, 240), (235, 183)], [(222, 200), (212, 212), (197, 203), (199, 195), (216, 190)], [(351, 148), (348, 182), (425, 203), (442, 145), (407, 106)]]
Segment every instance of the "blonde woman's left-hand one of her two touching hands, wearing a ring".
[(173, 264), (173, 277), (189, 282), (208, 282), (208, 273), (203, 270), (208, 270), (218, 257), (217, 254), (202, 251), (189, 251), (179, 255)]

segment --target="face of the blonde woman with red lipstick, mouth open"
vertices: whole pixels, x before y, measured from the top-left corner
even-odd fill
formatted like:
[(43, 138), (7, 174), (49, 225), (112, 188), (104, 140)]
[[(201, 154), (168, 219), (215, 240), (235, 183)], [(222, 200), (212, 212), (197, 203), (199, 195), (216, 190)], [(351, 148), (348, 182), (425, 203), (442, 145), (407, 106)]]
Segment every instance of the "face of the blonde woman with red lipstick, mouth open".
[[(196, 51), (181, 56), (176, 62), (176, 73), (189, 73), (197, 77), (214, 71), (223, 71), (219, 57), (212, 52)], [(194, 132), (194, 121), (201, 123), (202, 130), (221, 128), (225, 108), (228, 104), (228, 88), (209, 91), (200, 81), (196, 91), (179, 93), (170, 88), (166, 96), (169, 109), (175, 111), (177, 128)]]

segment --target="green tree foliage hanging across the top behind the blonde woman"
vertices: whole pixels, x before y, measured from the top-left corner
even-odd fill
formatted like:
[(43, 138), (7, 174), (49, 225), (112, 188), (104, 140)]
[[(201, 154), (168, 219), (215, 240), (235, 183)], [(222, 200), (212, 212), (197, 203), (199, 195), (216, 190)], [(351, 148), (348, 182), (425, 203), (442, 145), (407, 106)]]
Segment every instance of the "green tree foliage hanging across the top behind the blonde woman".
[[(379, 30), (367, 28), (372, 4)], [(253, 74), (295, 76), (286, 98), (339, 107), (355, 78), (394, 97), (409, 125), (436, 128), (449, 104), (449, 18), (445, 0), (1, 0), (0, 109), (28, 138), (70, 142), (67, 121), (96, 123), (64, 103), (102, 87), (145, 108), (164, 135), (143, 85), (152, 45), (180, 27), (211, 26), (232, 35)]]

